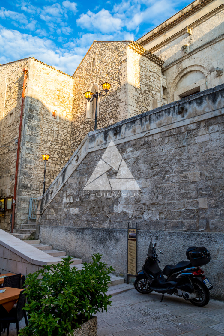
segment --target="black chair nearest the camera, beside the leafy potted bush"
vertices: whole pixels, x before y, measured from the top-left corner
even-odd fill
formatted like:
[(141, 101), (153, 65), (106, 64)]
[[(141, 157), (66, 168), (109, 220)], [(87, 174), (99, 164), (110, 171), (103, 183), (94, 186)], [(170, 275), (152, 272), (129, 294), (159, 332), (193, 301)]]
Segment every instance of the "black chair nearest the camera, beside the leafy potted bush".
[(17, 335), (19, 331), (19, 322), (24, 318), (26, 326), (28, 326), (28, 319), (27, 319), (27, 313), (25, 310), (23, 310), (23, 307), (25, 305), (25, 296), (24, 290), (20, 292), (19, 298), (16, 304), (12, 307), (9, 313), (5, 311), (5, 313), (1, 314), (0, 316), (0, 336), (2, 334), (2, 326), (4, 328), (7, 328), (7, 336), (9, 335), (9, 325), (10, 323), (16, 324), (16, 330)]

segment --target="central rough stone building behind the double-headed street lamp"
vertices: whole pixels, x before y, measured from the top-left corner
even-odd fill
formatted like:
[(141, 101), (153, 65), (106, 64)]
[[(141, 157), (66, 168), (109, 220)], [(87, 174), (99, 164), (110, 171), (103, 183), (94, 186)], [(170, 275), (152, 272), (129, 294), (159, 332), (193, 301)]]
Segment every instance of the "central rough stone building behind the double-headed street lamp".
[[(130, 41), (94, 42), (74, 74), (72, 152), (94, 129), (94, 116), (86, 117), (84, 92), (92, 84), (112, 84), (98, 101), (97, 128), (107, 127), (152, 108), (161, 106), (161, 67), (128, 47)], [(95, 67), (92, 60), (95, 58)]]

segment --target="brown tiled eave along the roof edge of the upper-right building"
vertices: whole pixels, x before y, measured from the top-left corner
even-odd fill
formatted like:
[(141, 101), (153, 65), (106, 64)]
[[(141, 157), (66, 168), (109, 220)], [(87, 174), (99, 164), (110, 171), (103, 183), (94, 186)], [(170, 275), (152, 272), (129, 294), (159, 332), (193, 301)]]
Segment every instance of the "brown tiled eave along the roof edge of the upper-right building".
[(173, 20), (172, 22), (170, 22), (166, 26), (160, 28), (157, 32), (152, 33), (149, 37), (147, 37), (146, 39), (142, 40), (140, 43), (142, 45), (145, 45), (148, 42), (154, 40), (155, 38), (159, 37), (160, 35), (164, 34), (168, 30), (170, 30), (171, 28), (173, 28), (174, 26), (177, 26), (181, 21), (185, 20), (186, 18), (188, 18), (189, 16), (191, 16), (192, 14), (194, 14), (195, 12), (197, 12), (198, 10), (200, 10), (201, 8), (205, 7), (206, 5), (208, 5), (212, 1), (214, 1), (214, 0), (202, 0), (196, 6), (191, 7), (187, 12), (185, 12), (184, 14), (178, 16), (175, 20)]

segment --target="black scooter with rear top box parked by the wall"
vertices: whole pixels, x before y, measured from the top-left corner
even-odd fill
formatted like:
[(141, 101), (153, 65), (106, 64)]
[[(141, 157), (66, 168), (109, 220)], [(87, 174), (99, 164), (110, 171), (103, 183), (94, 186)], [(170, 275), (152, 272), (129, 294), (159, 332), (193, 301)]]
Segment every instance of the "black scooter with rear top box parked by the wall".
[[(156, 236), (155, 241), (158, 240)], [(189, 247), (186, 256), (189, 261), (180, 261), (176, 265), (166, 265), (160, 269), (158, 254), (155, 252), (156, 242), (152, 239), (148, 248), (148, 257), (136, 274), (135, 289), (141, 294), (152, 291), (164, 294), (175, 294), (189, 300), (195, 306), (203, 307), (210, 300), (209, 291), (213, 288), (210, 281), (203, 276), (204, 271), (199, 266), (210, 262), (210, 253), (205, 247)], [(161, 251), (159, 251), (163, 254)], [(164, 275), (167, 277), (165, 279)]]

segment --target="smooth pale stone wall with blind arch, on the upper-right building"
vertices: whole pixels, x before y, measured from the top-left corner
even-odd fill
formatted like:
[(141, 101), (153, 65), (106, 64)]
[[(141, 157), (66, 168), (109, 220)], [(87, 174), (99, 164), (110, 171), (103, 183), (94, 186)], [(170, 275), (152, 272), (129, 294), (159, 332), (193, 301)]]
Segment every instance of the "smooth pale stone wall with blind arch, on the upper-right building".
[[(201, 4), (204, 1), (201, 1)], [(217, 76), (216, 68), (224, 68), (224, 5), (220, 0), (207, 1), (206, 6), (201, 5), (196, 11), (192, 11), (184, 19), (184, 13), (190, 7), (197, 6), (198, 1), (183, 9), (179, 24), (173, 25), (174, 19), (178, 20), (178, 14), (167, 20), (159, 29), (165, 29), (166, 33), (158, 34), (149, 41), (147, 37), (156, 33), (156, 28), (147, 36), (140, 38), (137, 42), (144, 48), (162, 58), (165, 63), (163, 75), (167, 78), (167, 101), (175, 101), (181, 97), (175, 95), (176, 85), (179, 79), (186, 73), (197, 70), (205, 75), (203, 83), (197, 83), (192, 78), (191, 85), (186, 81), (185, 92), (200, 87), (200, 90), (211, 88), (224, 83), (223, 76)], [(170, 26), (169, 26), (170, 25)], [(191, 29), (189, 35), (186, 27)], [(161, 30), (161, 32), (162, 32)], [(185, 47), (184, 47), (185, 46)], [(184, 90), (183, 90), (184, 92)]]

